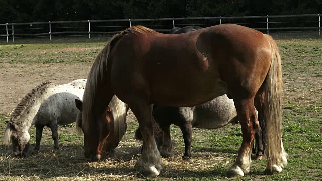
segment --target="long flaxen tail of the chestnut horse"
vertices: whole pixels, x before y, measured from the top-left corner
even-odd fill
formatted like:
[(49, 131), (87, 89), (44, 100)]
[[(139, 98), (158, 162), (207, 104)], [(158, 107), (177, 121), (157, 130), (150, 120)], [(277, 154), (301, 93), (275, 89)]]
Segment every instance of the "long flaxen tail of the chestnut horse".
[[(264, 88), (264, 121), (267, 136), (268, 168), (281, 163), (283, 156), (282, 145), (282, 65), (277, 44), (269, 35), (264, 35), (271, 47), (271, 67), (268, 71)], [(286, 153), (285, 153), (286, 154)], [(286, 165), (284, 165), (286, 166)]]

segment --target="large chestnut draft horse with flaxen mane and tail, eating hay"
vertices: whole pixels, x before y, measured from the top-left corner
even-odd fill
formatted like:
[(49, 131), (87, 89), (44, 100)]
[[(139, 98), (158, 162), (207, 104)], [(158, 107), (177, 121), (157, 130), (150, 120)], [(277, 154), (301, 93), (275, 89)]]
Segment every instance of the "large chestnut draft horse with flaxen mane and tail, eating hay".
[(155, 143), (152, 104), (190, 107), (227, 94), (232, 98), (243, 142), (229, 177), (244, 176), (251, 167), (254, 134), (263, 115), (267, 135), (265, 173), (287, 165), (281, 134), (282, 70), (274, 40), (251, 28), (222, 24), (168, 35), (133, 26), (115, 35), (97, 56), (88, 75), (82, 105), (85, 156), (98, 158), (101, 115), (116, 95), (136, 116), (145, 176), (158, 176), (161, 156)]

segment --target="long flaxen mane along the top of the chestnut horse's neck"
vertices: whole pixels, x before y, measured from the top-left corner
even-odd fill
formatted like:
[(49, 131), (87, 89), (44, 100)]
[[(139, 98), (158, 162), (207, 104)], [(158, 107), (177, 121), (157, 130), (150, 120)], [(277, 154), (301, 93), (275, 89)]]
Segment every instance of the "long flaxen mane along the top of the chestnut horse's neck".
[(107, 45), (102, 49), (95, 59), (95, 62), (92, 65), (91, 71), (87, 78), (86, 88), (84, 90), (83, 96), (83, 105), (82, 105), (82, 128), (84, 132), (89, 130), (90, 120), (94, 117), (94, 104), (95, 96), (97, 94), (97, 88), (99, 85), (104, 84), (104, 78), (106, 77), (106, 70), (108, 65), (108, 57), (111, 51), (111, 48), (115, 43), (121, 39), (124, 35), (130, 34), (142, 34), (147, 35), (148, 33), (156, 33), (156, 31), (146, 28), (144, 26), (132, 26), (119, 34), (116, 34), (112, 39), (107, 43)]

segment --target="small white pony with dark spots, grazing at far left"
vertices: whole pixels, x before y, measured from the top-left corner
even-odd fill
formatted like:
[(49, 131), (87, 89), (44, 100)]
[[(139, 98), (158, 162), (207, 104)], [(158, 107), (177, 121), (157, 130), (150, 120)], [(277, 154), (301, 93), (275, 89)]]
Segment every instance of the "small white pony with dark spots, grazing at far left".
[(54, 148), (59, 149), (58, 124), (75, 122), (78, 109), (75, 99), (82, 99), (86, 79), (74, 80), (68, 84), (41, 83), (33, 88), (17, 105), (7, 122), (5, 144), (12, 145), (16, 156), (25, 156), (29, 149), (29, 129), (36, 127), (35, 152), (40, 148), (44, 126), (51, 129)]

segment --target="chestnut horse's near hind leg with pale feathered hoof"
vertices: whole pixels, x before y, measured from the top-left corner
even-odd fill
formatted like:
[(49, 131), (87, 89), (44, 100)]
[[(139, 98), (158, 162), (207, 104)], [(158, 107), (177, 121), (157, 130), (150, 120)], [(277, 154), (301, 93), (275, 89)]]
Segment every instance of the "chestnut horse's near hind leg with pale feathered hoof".
[(235, 163), (229, 168), (229, 177), (240, 177), (248, 174), (251, 168), (252, 144), (256, 129), (259, 127), (253, 99), (234, 100), (238, 120), (243, 133), (243, 143), (238, 151)]

